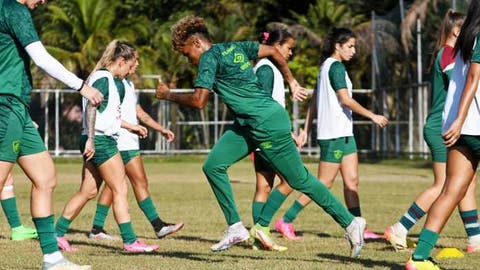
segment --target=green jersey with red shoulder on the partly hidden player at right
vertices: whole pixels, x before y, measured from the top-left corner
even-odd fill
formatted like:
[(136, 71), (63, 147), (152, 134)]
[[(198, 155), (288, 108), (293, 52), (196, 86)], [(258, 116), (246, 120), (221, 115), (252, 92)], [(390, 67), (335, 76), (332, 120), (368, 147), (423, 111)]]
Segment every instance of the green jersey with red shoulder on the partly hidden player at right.
[(433, 64), (430, 112), (425, 123), (426, 128), (438, 130), (439, 133), (442, 129), (443, 107), (454, 65), (455, 52), (452, 47), (445, 45), (438, 51)]

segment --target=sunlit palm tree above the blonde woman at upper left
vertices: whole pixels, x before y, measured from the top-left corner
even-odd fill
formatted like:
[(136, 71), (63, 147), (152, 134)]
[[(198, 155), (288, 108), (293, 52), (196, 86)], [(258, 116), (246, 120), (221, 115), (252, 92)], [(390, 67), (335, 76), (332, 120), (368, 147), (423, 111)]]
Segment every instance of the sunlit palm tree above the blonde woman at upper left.
[(50, 23), (42, 29), (47, 49), (65, 66), (86, 77), (113, 38), (134, 42), (148, 35), (144, 17), (116, 17), (115, 0), (59, 0), (48, 5)]

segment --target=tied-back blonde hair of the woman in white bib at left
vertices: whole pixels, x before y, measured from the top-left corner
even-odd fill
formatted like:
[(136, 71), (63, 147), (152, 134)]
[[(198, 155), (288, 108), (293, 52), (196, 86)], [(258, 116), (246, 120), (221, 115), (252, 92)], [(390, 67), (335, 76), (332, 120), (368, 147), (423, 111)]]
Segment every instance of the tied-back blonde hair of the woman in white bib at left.
[(130, 43), (114, 39), (108, 43), (105, 51), (102, 54), (102, 57), (100, 57), (100, 60), (98, 60), (93, 71), (110, 66), (120, 57), (124, 58), (125, 60), (135, 58), (136, 52), (137, 51)]

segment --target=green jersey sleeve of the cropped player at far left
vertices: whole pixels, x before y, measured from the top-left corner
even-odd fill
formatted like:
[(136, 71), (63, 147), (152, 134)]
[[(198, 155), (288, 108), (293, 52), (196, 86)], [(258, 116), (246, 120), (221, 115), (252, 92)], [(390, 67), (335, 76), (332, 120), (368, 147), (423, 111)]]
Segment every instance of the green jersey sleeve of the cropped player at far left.
[(11, 34), (25, 48), (28, 44), (40, 41), (37, 30), (33, 25), (32, 15), (24, 5), (16, 3), (6, 11), (7, 27)]

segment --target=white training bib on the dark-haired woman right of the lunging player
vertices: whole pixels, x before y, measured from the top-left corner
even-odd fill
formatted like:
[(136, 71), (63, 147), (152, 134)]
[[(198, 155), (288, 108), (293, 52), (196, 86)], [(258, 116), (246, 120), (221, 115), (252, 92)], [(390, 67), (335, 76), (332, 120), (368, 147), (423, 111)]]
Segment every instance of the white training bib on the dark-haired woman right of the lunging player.
[[(317, 77), (317, 139), (328, 140), (353, 136), (352, 110), (343, 106), (330, 84), (328, 73), (335, 58), (327, 58)], [(352, 96), (352, 82), (345, 72), (348, 94)]]

